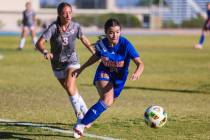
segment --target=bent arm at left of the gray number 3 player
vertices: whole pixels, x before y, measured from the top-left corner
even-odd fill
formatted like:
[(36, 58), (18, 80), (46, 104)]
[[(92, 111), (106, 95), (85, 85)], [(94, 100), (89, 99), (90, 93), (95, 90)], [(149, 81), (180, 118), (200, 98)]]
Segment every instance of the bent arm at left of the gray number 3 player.
[(36, 48), (44, 55), (45, 59), (52, 59), (53, 54), (44, 48), (45, 39), (41, 36), (36, 43)]

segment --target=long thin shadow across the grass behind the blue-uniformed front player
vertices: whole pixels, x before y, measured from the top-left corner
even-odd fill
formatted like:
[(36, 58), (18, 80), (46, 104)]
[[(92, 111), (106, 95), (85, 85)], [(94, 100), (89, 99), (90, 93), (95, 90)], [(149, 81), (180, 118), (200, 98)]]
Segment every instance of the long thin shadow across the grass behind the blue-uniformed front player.
[[(91, 84), (81, 84), (82, 86), (93, 86)], [(210, 94), (210, 91), (199, 91), (199, 90), (189, 90), (189, 89), (163, 89), (163, 88), (153, 88), (153, 87), (132, 87), (125, 86), (124, 89), (138, 89), (138, 90), (148, 90), (148, 91), (161, 91), (161, 92), (178, 92), (178, 93), (193, 93), (193, 94)]]

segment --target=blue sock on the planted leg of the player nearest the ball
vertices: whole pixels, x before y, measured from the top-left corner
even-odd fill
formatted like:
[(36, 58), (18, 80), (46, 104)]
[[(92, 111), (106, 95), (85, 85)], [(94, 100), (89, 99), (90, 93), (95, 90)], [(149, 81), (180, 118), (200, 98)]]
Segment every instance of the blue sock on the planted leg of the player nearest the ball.
[(81, 123), (84, 125), (88, 125), (95, 121), (101, 113), (103, 113), (107, 109), (107, 105), (102, 101), (99, 100), (95, 105), (93, 105), (88, 112), (85, 114), (84, 118), (82, 119)]

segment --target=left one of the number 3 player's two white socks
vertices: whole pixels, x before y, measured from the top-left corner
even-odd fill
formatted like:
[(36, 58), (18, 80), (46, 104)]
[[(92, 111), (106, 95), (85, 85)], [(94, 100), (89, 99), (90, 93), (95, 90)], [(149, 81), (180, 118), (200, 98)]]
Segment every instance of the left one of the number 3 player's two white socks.
[(83, 115), (83, 113), (81, 112), (81, 109), (80, 109), (79, 94), (69, 96), (69, 100), (72, 104), (72, 107), (74, 109), (77, 120), (83, 119), (84, 115)]

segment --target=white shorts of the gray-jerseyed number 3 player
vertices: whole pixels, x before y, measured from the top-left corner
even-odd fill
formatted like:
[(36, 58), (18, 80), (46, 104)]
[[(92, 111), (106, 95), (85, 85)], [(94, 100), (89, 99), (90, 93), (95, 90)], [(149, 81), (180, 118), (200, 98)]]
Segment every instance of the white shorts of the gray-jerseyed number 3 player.
[(72, 68), (72, 69), (79, 69), (80, 68), (80, 64), (70, 64), (70, 65), (68, 65), (66, 67), (65, 70), (53, 71), (53, 73), (54, 73), (54, 75), (55, 75), (55, 77), (57, 79), (65, 79), (66, 76), (67, 76), (67, 70), (70, 69), (70, 68)]

